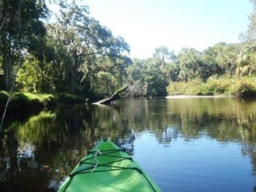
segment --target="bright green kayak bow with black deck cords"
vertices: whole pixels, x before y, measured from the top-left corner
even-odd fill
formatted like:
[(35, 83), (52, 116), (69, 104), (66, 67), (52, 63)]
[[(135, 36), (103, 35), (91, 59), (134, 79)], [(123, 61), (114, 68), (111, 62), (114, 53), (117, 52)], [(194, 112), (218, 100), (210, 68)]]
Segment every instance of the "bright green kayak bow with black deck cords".
[(58, 191), (161, 191), (124, 149), (110, 141), (97, 144)]

